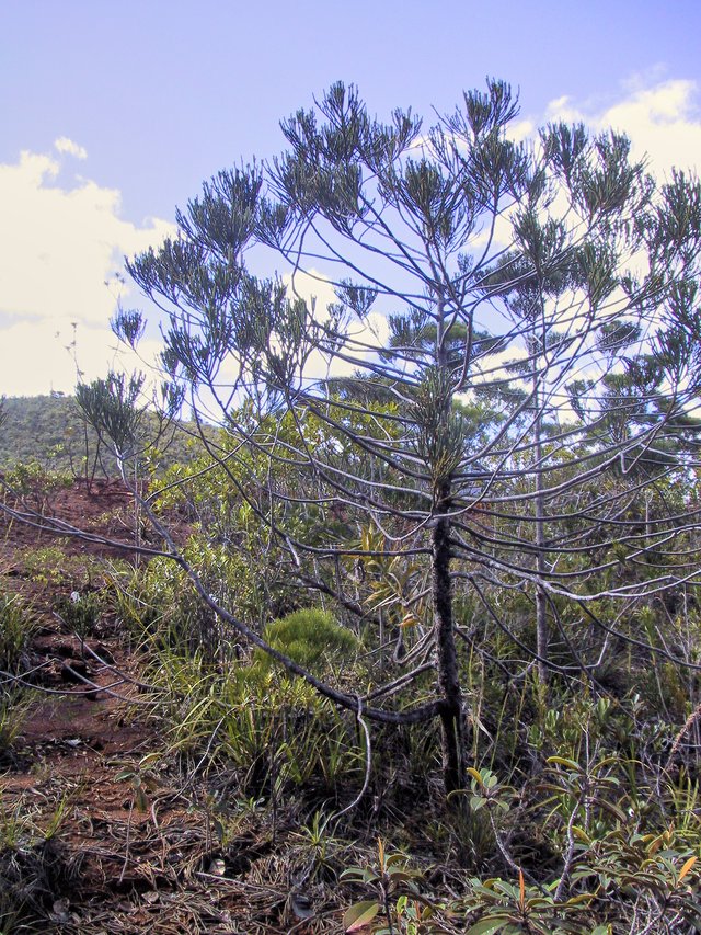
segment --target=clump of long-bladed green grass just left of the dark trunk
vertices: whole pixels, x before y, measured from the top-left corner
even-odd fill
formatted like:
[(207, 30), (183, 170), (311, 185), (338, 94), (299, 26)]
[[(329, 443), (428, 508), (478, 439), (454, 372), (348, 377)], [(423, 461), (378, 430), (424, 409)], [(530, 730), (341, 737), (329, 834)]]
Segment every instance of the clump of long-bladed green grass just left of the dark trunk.
[(349, 794), (363, 773), (353, 721), (300, 680), (260, 665), (212, 671), (194, 658), (151, 643), (152, 684), (164, 692), (168, 749), (200, 768), (234, 771), (246, 795), (315, 788), (323, 798)]

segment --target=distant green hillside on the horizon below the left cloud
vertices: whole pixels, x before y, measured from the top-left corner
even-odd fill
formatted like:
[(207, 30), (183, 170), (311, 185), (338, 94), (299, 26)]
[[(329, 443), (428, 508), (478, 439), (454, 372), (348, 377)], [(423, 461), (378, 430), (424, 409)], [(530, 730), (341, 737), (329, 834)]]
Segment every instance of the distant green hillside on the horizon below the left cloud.
[[(73, 397), (24, 396), (4, 400), (5, 420), (0, 425), (0, 467), (16, 461), (38, 460), (58, 470), (82, 474), (84, 458), (90, 463), (96, 452), (96, 435), (84, 423)], [(172, 436), (172, 438), (171, 438)], [(162, 465), (192, 457), (187, 445), (187, 423), (169, 433), (170, 444), (163, 453)], [(101, 452), (103, 469), (97, 476), (116, 475), (114, 458)]]

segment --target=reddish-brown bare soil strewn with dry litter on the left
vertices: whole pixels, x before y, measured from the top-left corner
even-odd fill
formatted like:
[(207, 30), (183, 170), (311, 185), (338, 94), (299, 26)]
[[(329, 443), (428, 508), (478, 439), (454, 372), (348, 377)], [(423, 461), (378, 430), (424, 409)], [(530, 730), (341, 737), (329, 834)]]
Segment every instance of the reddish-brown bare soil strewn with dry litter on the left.
[[(130, 505), (116, 482), (42, 504), (124, 543)], [(96, 559), (118, 555), (0, 514), (0, 594), (21, 595), (36, 622), (22, 661), (36, 689), (0, 744), (0, 932), (341, 931), (333, 907), (300, 919), (264, 818), (221, 853), (207, 790), (169, 760), (118, 620), (101, 618), (83, 646), (54, 613), (97, 590)]]

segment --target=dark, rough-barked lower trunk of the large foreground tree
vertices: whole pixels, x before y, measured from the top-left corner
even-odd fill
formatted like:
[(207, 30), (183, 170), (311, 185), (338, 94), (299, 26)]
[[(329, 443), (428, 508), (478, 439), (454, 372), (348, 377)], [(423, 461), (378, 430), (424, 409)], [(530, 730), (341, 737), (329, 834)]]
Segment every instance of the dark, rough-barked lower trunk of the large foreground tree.
[[(450, 482), (448, 481), (443, 484), (439, 497), (444, 509), (449, 494)], [(450, 521), (445, 515), (438, 514), (432, 535), (432, 590), (446, 795), (464, 788), (466, 777), (464, 708), (452, 617), (449, 535)]]

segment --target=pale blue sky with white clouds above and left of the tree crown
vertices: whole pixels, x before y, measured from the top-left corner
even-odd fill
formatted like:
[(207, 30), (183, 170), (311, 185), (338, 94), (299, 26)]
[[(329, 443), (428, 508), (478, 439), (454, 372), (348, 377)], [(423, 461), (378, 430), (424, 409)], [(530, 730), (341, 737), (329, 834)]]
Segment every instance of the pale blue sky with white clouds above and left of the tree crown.
[(104, 376), (124, 258), (334, 81), (430, 123), (502, 78), (524, 133), (613, 125), (664, 178), (701, 164), (700, 34), (699, 0), (0, 0), (0, 396)]

